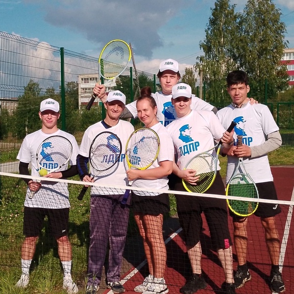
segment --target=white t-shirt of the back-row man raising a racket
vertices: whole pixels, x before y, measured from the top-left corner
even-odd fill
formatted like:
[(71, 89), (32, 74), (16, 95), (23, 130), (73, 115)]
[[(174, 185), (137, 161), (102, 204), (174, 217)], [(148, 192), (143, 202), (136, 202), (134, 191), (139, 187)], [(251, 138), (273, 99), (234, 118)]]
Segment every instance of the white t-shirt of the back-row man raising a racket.
[[(162, 123), (164, 126), (167, 126), (169, 123), (175, 120), (176, 113), (174, 106), (172, 105), (172, 94), (164, 95), (162, 92), (152, 93), (152, 97), (155, 99), (157, 105), (157, 120)], [(202, 99), (192, 95), (191, 109), (194, 110), (209, 110), (211, 111), (214, 106), (203, 101)], [(134, 118), (137, 118), (137, 101), (134, 101), (130, 104), (125, 105)]]

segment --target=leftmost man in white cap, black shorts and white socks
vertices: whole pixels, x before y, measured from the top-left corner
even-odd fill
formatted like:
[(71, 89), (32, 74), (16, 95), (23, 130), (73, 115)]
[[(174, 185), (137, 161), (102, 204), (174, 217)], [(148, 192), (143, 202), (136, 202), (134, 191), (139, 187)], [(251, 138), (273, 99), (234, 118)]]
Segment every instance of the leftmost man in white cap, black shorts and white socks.
[[(63, 136), (73, 145), (73, 154), (70, 158), (71, 168), (61, 172), (52, 172), (45, 177), (67, 178), (77, 174), (76, 156), (78, 146), (74, 137), (57, 128), (59, 119), (59, 103), (51, 98), (41, 102), (39, 117), (42, 128), (27, 135), (17, 155), (19, 159), (20, 174), (29, 175), (28, 165), (31, 163), (31, 175), (39, 176), (36, 163), (36, 151), (39, 145), (50, 136)], [(67, 167), (64, 167), (67, 169)], [(72, 268), (72, 246), (68, 238), (69, 221), (69, 192), (65, 183), (37, 182), (24, 179), (28, 185), (25, 197), (24, 209), (24, 234), (25, 241), (22, 245), (22, 275), (16, 287), (26, 288), (29, 283), (29, 268), (35, 253), (38, 236), (42, 230), (45, 217), (48, 217), (49, 231), (54, 236), (58, 245), (58, 254), (64, 270), (63, 289), (69, 294), (78, 292), (77, 286), (71, 276)], [(35, 192), (32, 198), (30, 191)]]

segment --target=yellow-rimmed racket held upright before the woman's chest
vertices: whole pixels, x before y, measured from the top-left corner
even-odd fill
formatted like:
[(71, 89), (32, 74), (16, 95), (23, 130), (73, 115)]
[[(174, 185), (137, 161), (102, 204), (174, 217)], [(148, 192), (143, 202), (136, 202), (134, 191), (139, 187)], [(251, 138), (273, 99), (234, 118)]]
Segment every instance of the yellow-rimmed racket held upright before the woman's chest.
[[(128, 168), (146, 170), (156, 160), (160, 149), (159, 137), (150, 128), (142, 127), (135, 130), (126, 142), (125, 160)], [(132, 182), (129, 183), (129, 186)], [(122, 204), (126, 204), (130, 190), (127, 189), (123, 195)]]

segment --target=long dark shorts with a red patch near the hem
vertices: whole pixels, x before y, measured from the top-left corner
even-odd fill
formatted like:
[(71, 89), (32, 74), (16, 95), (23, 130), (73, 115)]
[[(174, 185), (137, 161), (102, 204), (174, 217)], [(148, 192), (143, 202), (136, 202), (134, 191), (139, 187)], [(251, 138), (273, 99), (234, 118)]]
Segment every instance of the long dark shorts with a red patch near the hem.
[[(186, 191), (181, 179), (177, 181), (175, 187), (178, 191)], [(225, 194), (220, 172), (217, 173), (213, 185), (205, 193)], [(179, 222), (183, 229), (182, 236), (187, 246), (195, 246), (200, 241), (202, 212), (206, 218), (213, 245), (218, 249), (232, 245), (225, 199), (182, 195), (176, 195), (176, 199)]]

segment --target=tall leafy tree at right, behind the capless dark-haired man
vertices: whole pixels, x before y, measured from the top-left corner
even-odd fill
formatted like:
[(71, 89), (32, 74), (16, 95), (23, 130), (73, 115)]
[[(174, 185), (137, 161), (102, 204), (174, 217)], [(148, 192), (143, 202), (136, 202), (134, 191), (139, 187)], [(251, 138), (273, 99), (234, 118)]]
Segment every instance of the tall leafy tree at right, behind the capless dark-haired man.
[[(239, 20), (240, 44), (238, 63), (249, 76), (252, 97), (265, 97), (265, 80), (269, 98), (287, 89), (286, 65), (281, 65), (286, 26), (280, 20), (280, 9), (271, 0), (248, 0)], [(244, 46), (245, 45), (245, 46)]]

